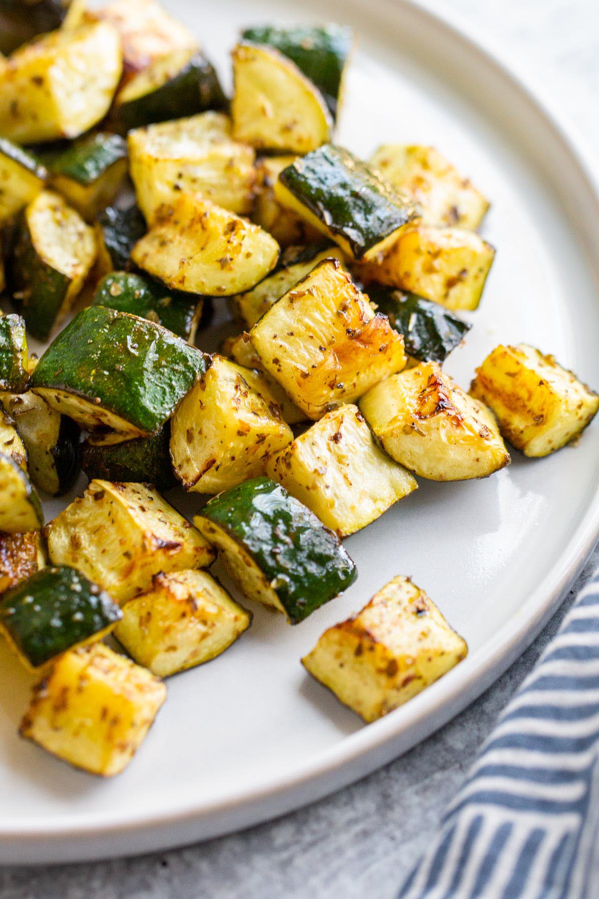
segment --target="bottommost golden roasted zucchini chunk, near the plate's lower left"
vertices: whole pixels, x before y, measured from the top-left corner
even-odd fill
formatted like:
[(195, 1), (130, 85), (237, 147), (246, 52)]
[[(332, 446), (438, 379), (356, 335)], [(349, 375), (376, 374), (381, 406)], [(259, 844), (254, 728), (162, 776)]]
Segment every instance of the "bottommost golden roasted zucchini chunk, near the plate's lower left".
[(154, 674), (95, 643), (61, 655), (33, 690), (19, 733), (92, 774), (127, 767), (166, 687)]

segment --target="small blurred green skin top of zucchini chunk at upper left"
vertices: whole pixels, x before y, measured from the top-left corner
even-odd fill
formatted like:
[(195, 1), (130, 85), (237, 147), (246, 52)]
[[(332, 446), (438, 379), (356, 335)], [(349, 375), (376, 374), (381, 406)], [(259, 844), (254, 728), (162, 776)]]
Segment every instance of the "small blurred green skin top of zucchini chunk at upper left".
[(48, 171), (87, 186), (97, 181), (119, 159), (126, 158), (126, 140), (119, 134), (98, 131), (76, 140), (61, 153), (48, 158)]

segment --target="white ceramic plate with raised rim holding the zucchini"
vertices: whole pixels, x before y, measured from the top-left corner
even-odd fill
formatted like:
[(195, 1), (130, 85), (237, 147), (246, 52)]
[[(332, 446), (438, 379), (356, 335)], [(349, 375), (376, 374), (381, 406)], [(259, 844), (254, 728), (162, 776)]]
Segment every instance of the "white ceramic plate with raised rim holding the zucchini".
[[(168, 5), (223, 72), (240, 26), (298, 15), (288, 0)], [(480, 43), (408, 0), (309, 0), (301, 14), (349, 22), (359, 36), (339, 142), (364, 156), (381, 141), (434, 144), (493, 202), (483, 233), (497, 261), (466, 345), (447, 368), (467, 386), (493, 345), (526, 341), (598, 387), (597, 187), (555, 114)], [(0, 646), (0, 861), (196, 841), (286, 812), (390, 761), (478, 696), (539, 631), (595, 541), (598, 485), (597, 423), (576, 449), (535, 462), (515, 453), (511, 467), (480, 483), (421, 482), (348, 539), (359, 578), (342, 598), (296, 628), (254, 609), (252, 628), (223, 656), (172, 678), (137, 758), (110, 781), (17, 737), (30, 683)], [(299, 659), (394, 574), (426, 588), (470, 654), (365, 727)]]

